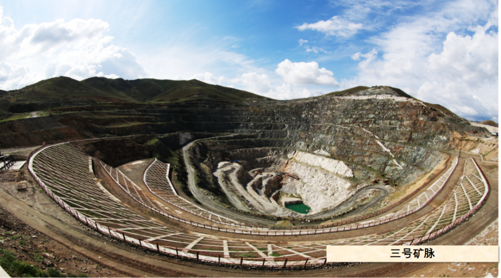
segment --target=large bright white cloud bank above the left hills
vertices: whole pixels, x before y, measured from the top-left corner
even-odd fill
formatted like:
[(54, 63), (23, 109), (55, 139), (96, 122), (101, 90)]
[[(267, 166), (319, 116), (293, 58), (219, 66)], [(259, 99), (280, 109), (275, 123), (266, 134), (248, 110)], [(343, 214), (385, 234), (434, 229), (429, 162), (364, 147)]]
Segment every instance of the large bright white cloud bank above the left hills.
[(0, 6), (0, 88), (16, 89), (63, 75), (78, 80), (145, 77), (135, 55), (105, 35), (108, 29), (99, 19), (59, 19), (17, 30)]

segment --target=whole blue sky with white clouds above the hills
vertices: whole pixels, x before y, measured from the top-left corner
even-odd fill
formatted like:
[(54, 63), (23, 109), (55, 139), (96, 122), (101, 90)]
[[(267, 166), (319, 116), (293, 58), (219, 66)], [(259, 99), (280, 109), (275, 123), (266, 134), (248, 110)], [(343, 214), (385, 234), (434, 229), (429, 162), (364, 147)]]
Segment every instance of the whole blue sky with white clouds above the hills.
[(277, 99), (391, 85), (499, 121), (498, 0), (0, 0), (0, 88), (192, 79)]

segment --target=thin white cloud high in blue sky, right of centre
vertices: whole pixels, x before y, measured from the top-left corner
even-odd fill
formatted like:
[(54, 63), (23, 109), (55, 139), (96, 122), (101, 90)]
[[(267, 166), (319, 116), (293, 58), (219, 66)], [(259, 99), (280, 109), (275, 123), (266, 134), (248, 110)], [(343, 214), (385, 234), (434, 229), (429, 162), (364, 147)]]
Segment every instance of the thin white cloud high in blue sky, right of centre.
[(340, 37), (350, 37), (358, 32), (358, 30), (363, 28), (362, 23), (354, 23), (346, 19), (342, 19), (339, 16), (334, 16), (329, 20), (320, 20), (316, 23), (304, 23), (301, 26), (297, 26), (300, 31), (304, 30), (316, 30), (323, 32), (327, 35), (334, 35)]

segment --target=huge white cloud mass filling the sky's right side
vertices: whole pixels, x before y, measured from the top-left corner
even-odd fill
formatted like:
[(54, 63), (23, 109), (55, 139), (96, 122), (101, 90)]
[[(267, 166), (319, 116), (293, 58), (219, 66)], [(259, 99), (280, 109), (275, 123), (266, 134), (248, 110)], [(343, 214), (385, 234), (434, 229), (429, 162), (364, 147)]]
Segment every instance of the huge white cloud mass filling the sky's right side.
[(498, 120), (498, 10), (495, 1), (458, 0), (399, 24), (374, 38), (381, 58), (375, 49), (352, 56), (359, 76), (344, 85), (397, 86), (462, 117)]

